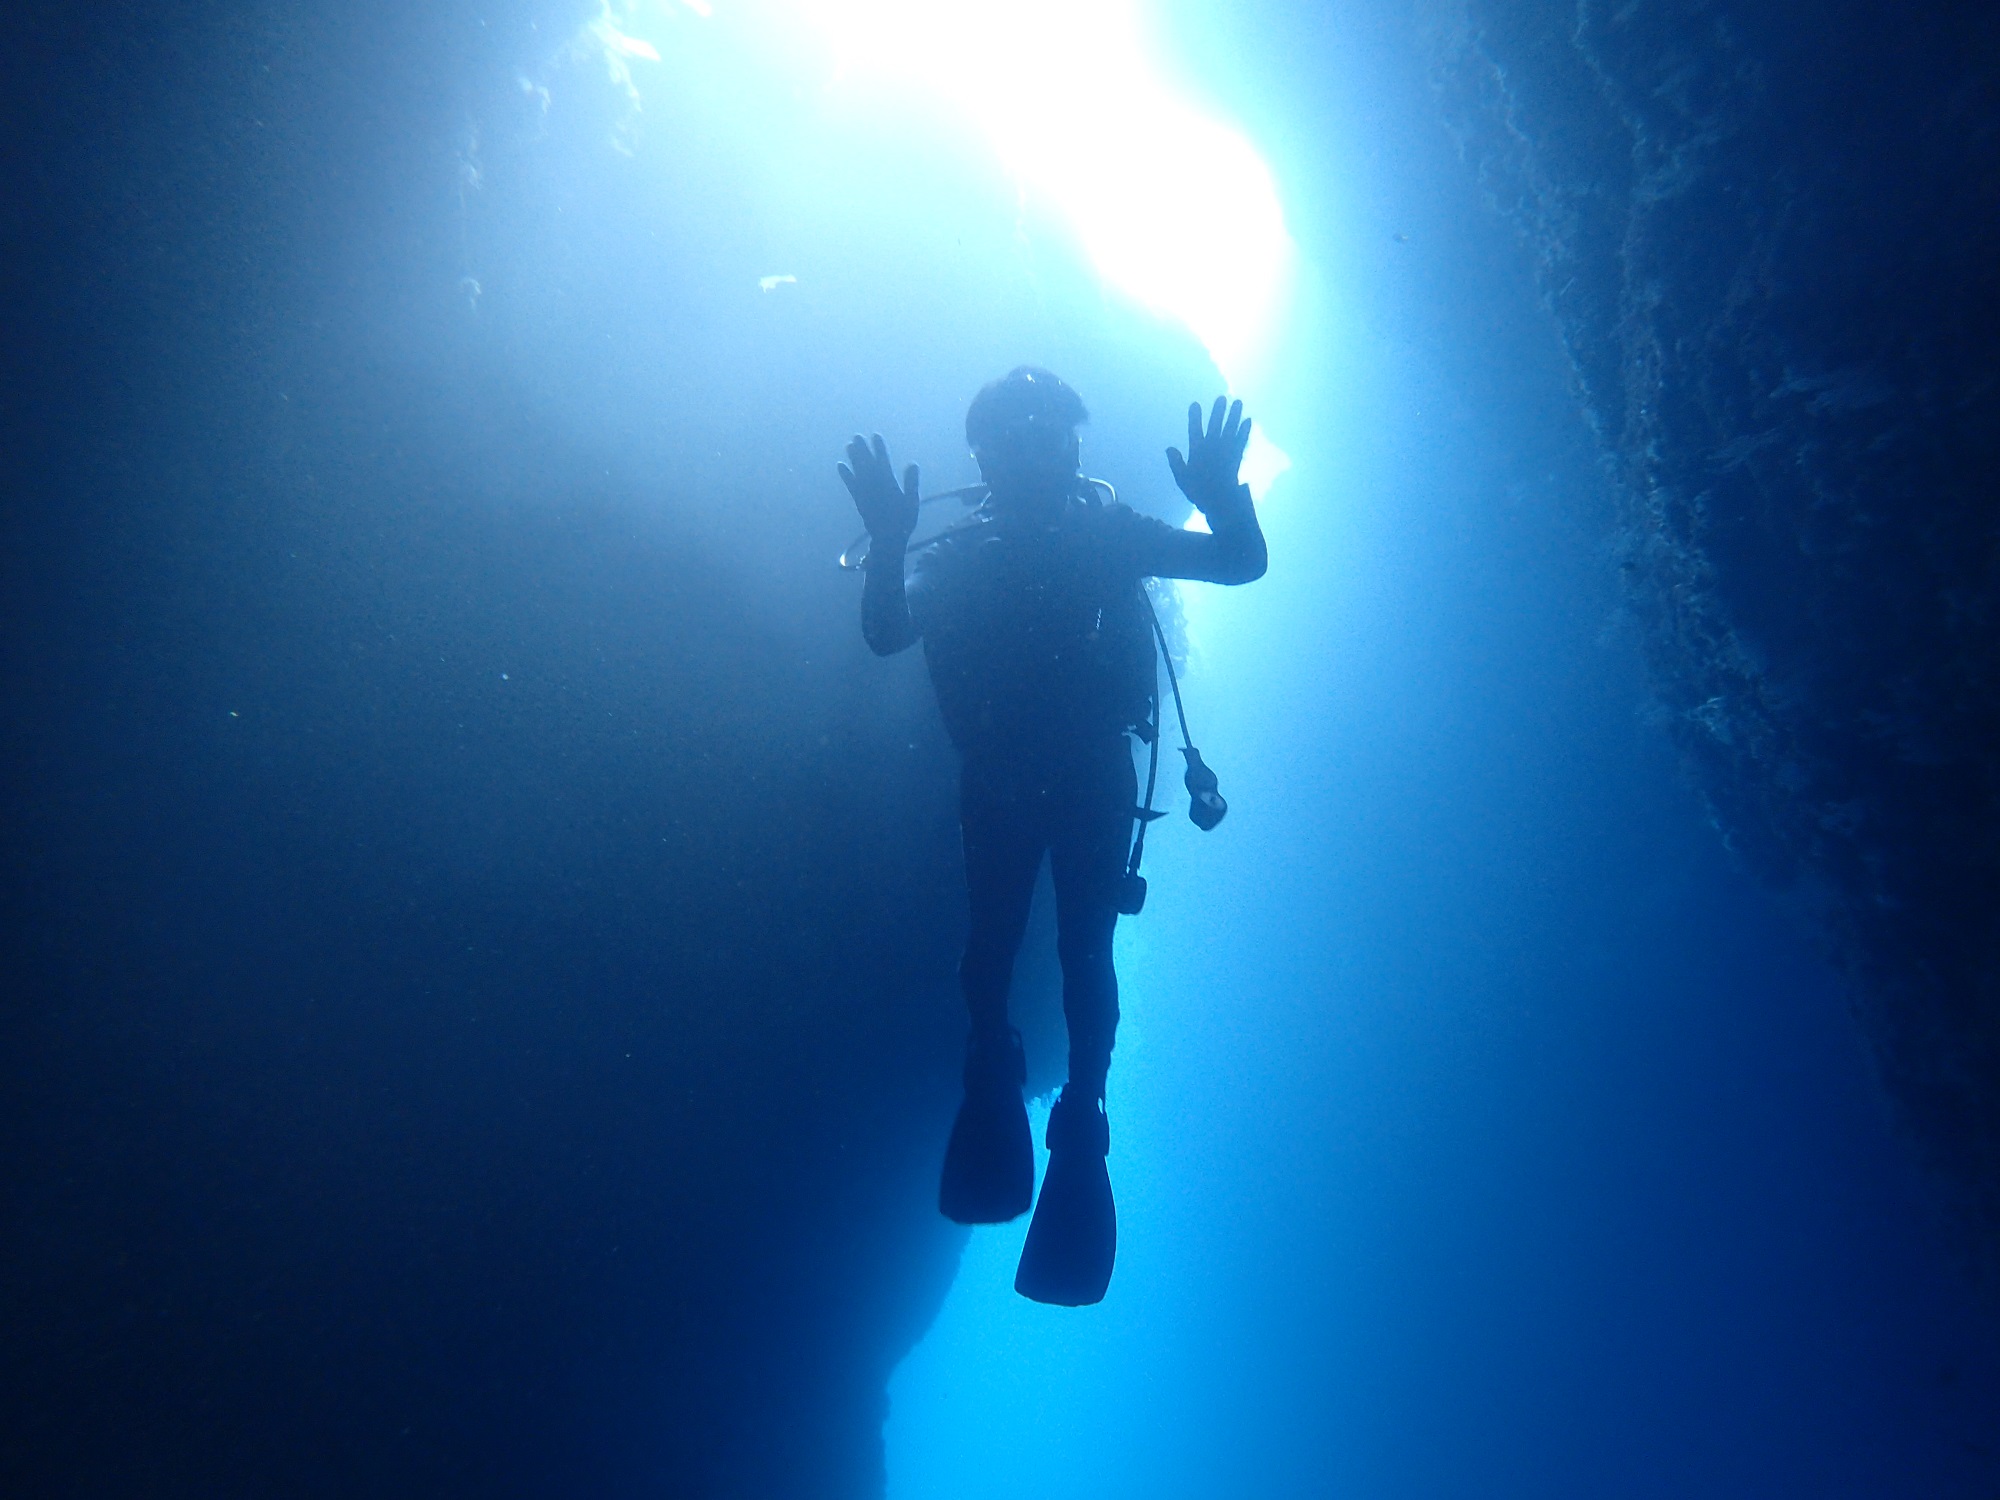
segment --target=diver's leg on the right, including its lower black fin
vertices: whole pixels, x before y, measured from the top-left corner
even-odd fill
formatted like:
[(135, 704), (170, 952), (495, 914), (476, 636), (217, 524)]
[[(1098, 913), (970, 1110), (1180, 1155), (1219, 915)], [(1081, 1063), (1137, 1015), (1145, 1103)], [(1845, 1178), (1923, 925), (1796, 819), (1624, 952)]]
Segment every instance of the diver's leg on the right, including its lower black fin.
[(1070, 1024), (1070, 1082), (1048, 1112), (1048, 1172), (1034, 1208), (1014, 1290), (1036, 1302), (1104, 1300), (1118, 1256), (1118, 1208), (1104, 1158), (1104, 1076), (1118, 1034), (1118, 878), (1124, 874), (1138, 782), (1132, 756), (1078, 766), (1050, 830), (1056, 878), (1056, 946), (1062, 1010)]

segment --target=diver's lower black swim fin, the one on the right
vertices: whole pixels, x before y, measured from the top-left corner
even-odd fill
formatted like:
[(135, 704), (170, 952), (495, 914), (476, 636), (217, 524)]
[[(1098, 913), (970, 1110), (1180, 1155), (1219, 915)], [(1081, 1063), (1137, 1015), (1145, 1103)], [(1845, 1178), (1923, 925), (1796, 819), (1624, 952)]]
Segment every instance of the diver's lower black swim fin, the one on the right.
[(1028, 1224), (1014, 1290), (1032, 1302), (1086, 1308), (1104, 1300), (1118, 1258), (1118, 1206), (1104, 1166), (1104, 1104), (1064, 1090), (1048, 1112), (1048, 1172)]

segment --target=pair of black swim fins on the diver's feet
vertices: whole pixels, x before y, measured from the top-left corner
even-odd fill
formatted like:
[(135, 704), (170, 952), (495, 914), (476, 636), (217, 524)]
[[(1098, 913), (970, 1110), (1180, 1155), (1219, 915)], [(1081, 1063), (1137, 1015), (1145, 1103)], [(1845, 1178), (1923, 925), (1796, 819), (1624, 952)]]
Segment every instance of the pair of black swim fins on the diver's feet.
[(1048, 1172), (1036, 1202), (1026, 1078), (1020, 1032), (972, 1038), (938, 1208), (956, 1224), (1006, 1224), (1034, 1204), (1014, 1290), (1032, 1302), (1086, 1308), (1104, 1300), (1118, 1256), (1118, 1208), (1104, 1166), (1110, 1122), (1102, 1100), (1062, 1092), (1048, 1112)]

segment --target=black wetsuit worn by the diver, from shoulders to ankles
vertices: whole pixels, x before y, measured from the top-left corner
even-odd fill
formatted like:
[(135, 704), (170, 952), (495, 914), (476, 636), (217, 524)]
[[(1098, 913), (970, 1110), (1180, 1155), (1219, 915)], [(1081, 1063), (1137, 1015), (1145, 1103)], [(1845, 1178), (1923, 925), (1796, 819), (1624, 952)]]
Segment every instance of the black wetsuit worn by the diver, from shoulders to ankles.
[(960, 986), (974, 1028), (1006, 1024), (1014, 954), (1048, 854), (1070, 1084), (1102, 1094), (1118, 1030), (1112, 930), (1138, 784), (1128, 734), (1154, 686), (1146, 578), (1248, 582), (1264, 538), (1248, 490), (1218, 534), (1122, 504), (984, 514), (922, 548), (912, 634), (964, 756), (960, 822), (972, 930)]

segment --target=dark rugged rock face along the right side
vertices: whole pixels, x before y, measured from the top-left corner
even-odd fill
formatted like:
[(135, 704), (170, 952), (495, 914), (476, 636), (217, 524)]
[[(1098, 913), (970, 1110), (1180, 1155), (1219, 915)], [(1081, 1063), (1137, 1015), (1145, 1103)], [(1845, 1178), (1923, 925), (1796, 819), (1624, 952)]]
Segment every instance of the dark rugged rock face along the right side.
[(1804, 878), (2000, 1270), (2000, 12), (1466, 0), (1440, 88), (1716, 824)]

